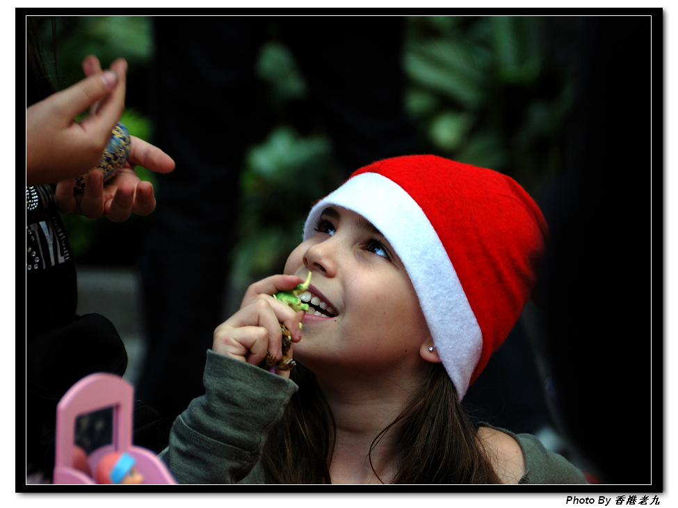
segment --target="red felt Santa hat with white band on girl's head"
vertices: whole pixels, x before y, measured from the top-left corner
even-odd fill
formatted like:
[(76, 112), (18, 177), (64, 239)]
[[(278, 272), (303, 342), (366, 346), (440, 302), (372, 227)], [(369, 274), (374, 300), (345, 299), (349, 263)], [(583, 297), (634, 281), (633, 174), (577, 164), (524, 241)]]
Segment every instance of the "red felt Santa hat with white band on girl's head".
[(548, 235), (539, 207), (512, 178), (435, 155), (355, 171), (311, 209), (305, 239), (330, 205), (364, 216), (394, 248), (461, 400), (530, 298)]

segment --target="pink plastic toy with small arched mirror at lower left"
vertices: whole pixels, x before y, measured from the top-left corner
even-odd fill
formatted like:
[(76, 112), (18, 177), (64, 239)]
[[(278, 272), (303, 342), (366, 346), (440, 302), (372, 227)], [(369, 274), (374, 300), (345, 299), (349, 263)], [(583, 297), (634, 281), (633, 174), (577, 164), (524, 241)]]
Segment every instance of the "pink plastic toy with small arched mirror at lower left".
[[(132, 445), (133, 395), (131, 384), (118, 376), (90, 374), (61, 397), (56, 406), (55, 484), (97, 483), (86, 471), (96, 471), (99, 461), (112, 453), (127, 454), (129, 459), (122, 462), (134, 462), (136, 475), (142, 477), (143, 484), (176, 483), (156, 454)], [(76, 420), (82, 415), (106, 408), (113, 408), (112, 442), (90, 453), (86, 457), (89, 467), (83, 467), (81, 448), (74, 443)], [(128, 472), (129, 469), (125, 471)]]

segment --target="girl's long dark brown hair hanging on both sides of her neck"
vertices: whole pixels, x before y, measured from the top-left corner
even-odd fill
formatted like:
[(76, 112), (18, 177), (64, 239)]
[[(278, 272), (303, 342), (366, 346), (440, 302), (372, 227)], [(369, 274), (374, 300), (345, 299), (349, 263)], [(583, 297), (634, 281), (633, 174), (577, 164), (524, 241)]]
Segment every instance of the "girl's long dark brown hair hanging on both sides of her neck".
[[(298, 365), (291, 379), (300, 389), (264, 445), (266, 482), (330, 484), (332, 413), (312, 372)], [(430, 364), (419, 391), (375, 438), (370, 454), (387, 432), (397, 433), (391, 450), (397, 471), (394, 484), (500, 483), (442, 364)]]

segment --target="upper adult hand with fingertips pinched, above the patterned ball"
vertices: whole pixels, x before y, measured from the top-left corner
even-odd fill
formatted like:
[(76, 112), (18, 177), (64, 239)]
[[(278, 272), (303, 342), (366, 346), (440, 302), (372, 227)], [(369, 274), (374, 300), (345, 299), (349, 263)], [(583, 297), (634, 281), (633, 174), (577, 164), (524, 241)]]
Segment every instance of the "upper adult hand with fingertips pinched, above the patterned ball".
[[(27, 185), (77, 177), (99, 164), (124, 109), (127, 62), (118, 58), (102, 72), (89, 56), (83, 68), (86, 79), (26, 109)], [(75, 122), (88, 108), (90, 116)]]

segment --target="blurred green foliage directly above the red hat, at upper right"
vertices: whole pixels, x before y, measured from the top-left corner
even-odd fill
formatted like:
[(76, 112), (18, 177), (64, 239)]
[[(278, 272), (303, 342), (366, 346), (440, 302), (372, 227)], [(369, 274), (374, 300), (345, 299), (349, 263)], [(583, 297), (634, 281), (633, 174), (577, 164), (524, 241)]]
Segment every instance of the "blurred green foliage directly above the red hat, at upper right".
[(551, 65), (544, 17), (413, 17), (407, 108), (430, 152), (515, 177), (538, 197), (560, 170), (572, 87)]

